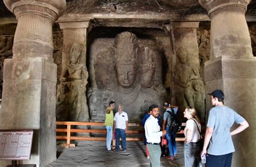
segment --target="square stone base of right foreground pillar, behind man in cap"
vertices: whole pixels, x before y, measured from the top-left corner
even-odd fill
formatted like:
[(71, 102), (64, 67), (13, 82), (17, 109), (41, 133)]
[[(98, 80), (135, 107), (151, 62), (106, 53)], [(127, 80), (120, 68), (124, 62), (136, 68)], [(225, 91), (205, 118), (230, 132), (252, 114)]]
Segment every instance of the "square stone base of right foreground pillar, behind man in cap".
[[(235, 146), (232, 166), (256, 166), (256, 58), (231, 59), (220, 57), (205, 64), (206, 93), (221, 89), (225, 94), (225, 105), (243, 116), (250, 128), (232, 136)], [(206, 110), (211, 108), (211, 101), (206, 97)], [(207, 114), (208, 115), (208, 114)], [(233, 128), (237, 127), (234, 124)]]

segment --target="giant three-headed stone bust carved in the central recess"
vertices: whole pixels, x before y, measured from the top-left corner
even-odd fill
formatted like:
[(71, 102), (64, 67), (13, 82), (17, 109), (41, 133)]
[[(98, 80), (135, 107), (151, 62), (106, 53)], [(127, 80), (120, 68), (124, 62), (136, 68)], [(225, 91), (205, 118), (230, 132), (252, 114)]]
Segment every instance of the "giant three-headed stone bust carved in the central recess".
[[(140, 121), (152, 104), (161, 106), (165, 90), (161, 81), (159, 55), (140, 44), (131, 32), (122, 32), (113, 44), (94, 59), (96, 89), (89, 99), (90, 119), (104, 121), (105, 107), (111, 100), (124, 107), (130, 121)], [(158, 69), (157, 69), (158, 68)]]

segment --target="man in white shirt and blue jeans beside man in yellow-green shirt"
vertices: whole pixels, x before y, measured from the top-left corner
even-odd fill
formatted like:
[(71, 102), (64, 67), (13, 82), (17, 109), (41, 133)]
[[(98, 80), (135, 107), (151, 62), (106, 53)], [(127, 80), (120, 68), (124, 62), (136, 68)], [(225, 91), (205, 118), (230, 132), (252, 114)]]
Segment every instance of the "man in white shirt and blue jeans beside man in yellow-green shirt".
[(114, 128), (116, 133), (116, 151), (119, 150), (119, 138), (122, 138), (122, 148), (126, 151), (126, 132), (128, 128), (128, 116), (123, 111), (123, 106), (118, 105), (118, 112), (114, 114)]

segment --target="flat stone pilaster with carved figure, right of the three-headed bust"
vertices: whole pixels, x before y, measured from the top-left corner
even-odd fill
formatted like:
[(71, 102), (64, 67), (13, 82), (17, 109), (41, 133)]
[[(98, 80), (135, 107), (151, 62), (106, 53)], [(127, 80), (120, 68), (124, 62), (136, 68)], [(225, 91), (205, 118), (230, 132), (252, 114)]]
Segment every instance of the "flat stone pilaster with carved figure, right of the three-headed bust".
[[(174, 57), (172, 57), (172, 74), (173, 74), (173, 99), (179, 109), (183, 111), (187, 106), (196, 107), (200, 117), (204, 118), (204, 98), (201, 97), (201, 106), (195, 100), (196, 92), (193, 88), (194, 81), (200, 80), (199, 58), (197, 43), (197, 28), (199, 22), (171, 22), (172, 43)], [(203, 82), (200, 80), (200, 85)], [(201, 86), (202, 87), (202, 86)], [(198, 92), (200, 95), (204, 88)], [(201, 95), (200, 95), (201, 96)], [(203, 108), (202, 108), (203, 107)], [(199, 109), (200, 108), (200, 109)], [(181, 114), (183, 112), (180, 112)]]

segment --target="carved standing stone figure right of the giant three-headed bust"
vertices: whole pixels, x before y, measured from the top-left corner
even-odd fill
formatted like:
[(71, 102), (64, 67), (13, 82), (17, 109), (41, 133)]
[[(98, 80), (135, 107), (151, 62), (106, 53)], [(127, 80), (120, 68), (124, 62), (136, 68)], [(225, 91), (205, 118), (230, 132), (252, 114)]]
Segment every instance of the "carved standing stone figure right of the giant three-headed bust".
[(177, 106), (197, 110), (200, 119), (205, 117), (205, 87), (200, 78), (199, 68), (188, 62), (188, 51), (184, 46), (177, 48), (177, 64), (174, 74), (174, 91)]

